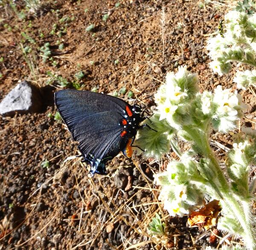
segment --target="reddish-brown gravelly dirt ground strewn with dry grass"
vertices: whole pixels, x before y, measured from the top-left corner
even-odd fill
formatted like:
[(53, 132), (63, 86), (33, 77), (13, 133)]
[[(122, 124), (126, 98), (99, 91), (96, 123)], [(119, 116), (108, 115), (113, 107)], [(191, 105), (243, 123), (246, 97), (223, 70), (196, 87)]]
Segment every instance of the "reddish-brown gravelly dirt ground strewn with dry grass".
[[(107, 176), (88, 177), (88, 166), (71, 157), (79, 154), (76, 143), (54, 119), (53, 93), (69, 82), (66, 88), (80, 84), (131, 101), (148, 84), (154, 93), (179, 65), (198, 73), (201, 90), (232, 87), (232, 74), (213, 75), (205, 49), (227, 7), (195, 0), (56, 0), (44, 2), (37, 15), (25, 11), (21, 20), (23, 1), (15, 2), (16, 9), (0, 7), (0, 100), (27, 79), (41, 88), (44, 107), (0, 117), (0, 250), (216, 247), (221, 233), (215, 239), (189, 228), (186, 216), (163, 211), (153, 173), (164, 164), (120, 154), (108, 163)], [(47, 42), (44, 62), (40, 48)], [(22, 47), (30, 48), (27, 58)], [(242, 94), (251, 127), (255, 97)], [(152, 98), (144, 103), (154, 106)], [(213, 137), (230, 147), (231, 134)], [(147, 231), (156, 212), (167, 227), (162, 238)]]

